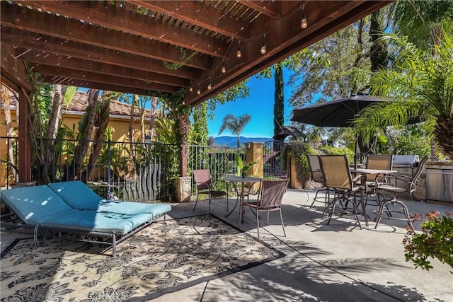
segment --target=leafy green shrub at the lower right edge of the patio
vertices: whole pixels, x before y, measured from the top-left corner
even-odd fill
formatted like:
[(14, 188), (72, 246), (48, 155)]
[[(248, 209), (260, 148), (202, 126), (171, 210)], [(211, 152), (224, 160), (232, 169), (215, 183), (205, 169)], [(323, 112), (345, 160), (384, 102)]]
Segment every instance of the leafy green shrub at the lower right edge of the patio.
[[(421, 214), (415, 216), (415, 219), (421, 219)], [(453, 268), (453, 214), (447, 211), (442, 218), (439, 216), (438, 211), (425, 214), (422, 233), (411, 231), (403, 240), (406, 261), (413, 262), (415, 267), (432, 269), (428, 260), (432, 257)]]

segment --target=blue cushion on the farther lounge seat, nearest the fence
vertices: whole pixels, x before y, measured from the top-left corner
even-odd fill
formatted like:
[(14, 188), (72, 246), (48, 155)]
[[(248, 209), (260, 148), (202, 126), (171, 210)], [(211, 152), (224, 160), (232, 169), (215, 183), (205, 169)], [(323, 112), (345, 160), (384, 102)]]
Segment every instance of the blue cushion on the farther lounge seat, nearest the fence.
[(74, 209), (108, 211), (119, 214), (135, 215), (149, 213), (153, 218), (171, 210), (168, 204), (142, 204), (139, 202), (110, 202), (93, 192), (79, 180), (54, 182), (48, 186)]

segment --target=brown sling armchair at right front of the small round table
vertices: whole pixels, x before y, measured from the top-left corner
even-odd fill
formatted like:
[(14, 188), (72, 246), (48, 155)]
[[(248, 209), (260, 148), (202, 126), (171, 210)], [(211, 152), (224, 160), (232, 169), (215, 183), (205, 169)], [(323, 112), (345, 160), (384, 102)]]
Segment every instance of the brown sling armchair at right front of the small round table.
[(282, 217), (282, 199), (288, 187), (288, 179), (280, 180), (261, 180), (260, 191), (256, 202), (246, 202), (243, 206), (256, 209), (256, 228), (258, 232), (258, 241), (260, 240), (260, 211), (267, 211), (269, 224), (269, 212), (280, 211), (280, 221), (282, 222), (283, 234), (286, 237), (285, 225)]

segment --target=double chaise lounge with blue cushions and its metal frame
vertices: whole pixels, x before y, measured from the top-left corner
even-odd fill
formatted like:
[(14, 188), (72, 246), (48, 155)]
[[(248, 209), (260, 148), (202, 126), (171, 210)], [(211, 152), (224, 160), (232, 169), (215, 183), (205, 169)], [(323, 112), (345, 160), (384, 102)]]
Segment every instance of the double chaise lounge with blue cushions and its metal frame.
[(168, 204), (110, 202), (78, 180), (4, 190), (1, 200), (21, 220), (2, 216), (2, 229), (34, 228), (35, 236), (76, 234), (79, 240), (112, 245), (114, 256), (117, 243), (171, 210)]

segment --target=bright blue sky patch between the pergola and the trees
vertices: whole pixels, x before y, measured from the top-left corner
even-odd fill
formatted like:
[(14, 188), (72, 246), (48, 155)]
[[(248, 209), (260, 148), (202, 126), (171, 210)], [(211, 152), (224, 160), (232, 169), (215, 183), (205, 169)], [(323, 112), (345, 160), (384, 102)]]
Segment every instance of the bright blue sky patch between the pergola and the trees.
[[(285, 124), (289, 124), (291, 118), (291, 110), (289, 108), (288, 100), (291, 96), (292, 89), (286, 83), (289, 81), (289, 71), (283, 71), (283, 78), (285, 80)], [(228, 130), (219, 135), (219, 129), (225, 115), (231, 114), (236, 117), (247, 113), (251, 115), (251, 121), (248, 122), (243, 129), (243, 137), (273, 137), (274, 135), (274, 79), (257, 79), (252, 76), (247, 83), (251, 88), (248, 98), (243, 100), (236, 100), (228, 102), (224, 105), (217, 105), (214, 110), (214, 120), (207, 120), (207, 127), (209, 136), (236, 136), (231, 134)]]

